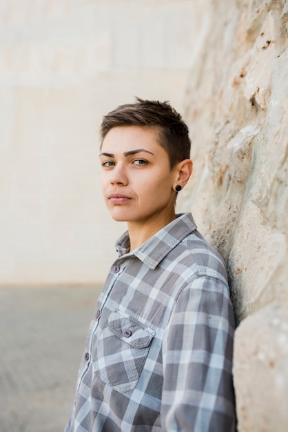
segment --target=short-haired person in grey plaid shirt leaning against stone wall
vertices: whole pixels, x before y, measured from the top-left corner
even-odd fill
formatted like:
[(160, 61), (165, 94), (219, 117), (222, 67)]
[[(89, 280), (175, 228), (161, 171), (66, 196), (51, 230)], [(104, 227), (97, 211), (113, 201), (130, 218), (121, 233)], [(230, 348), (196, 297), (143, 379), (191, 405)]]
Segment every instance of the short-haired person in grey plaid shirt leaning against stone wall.
[(190, 213), (187, 125), (137, 99), (101, 125), (101, 187), (127, 232), (92, 319), (65, 432), (235, 430), (234, 315), (223, 259)]

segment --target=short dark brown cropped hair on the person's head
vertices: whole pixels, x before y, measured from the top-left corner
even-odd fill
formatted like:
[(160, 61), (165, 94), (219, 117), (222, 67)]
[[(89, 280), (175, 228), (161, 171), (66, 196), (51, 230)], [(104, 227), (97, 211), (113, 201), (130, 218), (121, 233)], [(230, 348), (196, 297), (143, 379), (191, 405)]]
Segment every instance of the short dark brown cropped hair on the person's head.
[(109, 112), (103, 117), (100, 127), (101, 146), (107, 133), (119, 126), (155, 128), (158, 142), (169, 156), (170, 168), (190, 157), (188, 126), (168, 101), (148, 101), (136, 97), (135, 104), (121, 105)]

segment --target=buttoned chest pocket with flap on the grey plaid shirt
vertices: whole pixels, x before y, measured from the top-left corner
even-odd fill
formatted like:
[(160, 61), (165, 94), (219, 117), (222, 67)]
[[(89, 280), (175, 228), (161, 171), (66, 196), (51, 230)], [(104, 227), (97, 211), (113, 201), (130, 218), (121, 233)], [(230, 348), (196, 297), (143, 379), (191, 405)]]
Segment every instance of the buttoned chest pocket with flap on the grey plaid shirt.
[(154, 334), (122, 311), (111, 313), (101, 335), (94, 335), (94, 373), (120, 393), (133, 390)]

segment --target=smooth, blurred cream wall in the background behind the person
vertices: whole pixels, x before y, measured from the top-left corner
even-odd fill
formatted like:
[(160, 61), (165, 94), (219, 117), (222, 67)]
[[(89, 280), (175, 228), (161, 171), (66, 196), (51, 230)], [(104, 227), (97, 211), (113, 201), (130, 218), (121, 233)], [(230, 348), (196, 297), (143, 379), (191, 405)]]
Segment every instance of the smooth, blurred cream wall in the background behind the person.
[(101, 117), (181, 110), (199, 1), (0, 2), (0, 284), (102, 282), (125, 229), (99, 188)]

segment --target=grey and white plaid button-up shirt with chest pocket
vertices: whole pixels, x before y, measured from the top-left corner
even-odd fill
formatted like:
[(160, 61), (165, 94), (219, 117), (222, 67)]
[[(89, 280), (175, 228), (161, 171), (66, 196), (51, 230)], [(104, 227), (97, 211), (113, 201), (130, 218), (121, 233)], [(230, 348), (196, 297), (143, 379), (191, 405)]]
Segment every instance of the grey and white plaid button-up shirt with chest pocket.
[(129, 252), (99, 297), (65, 432), (235, 430), (225, 265), (180, 215)]

